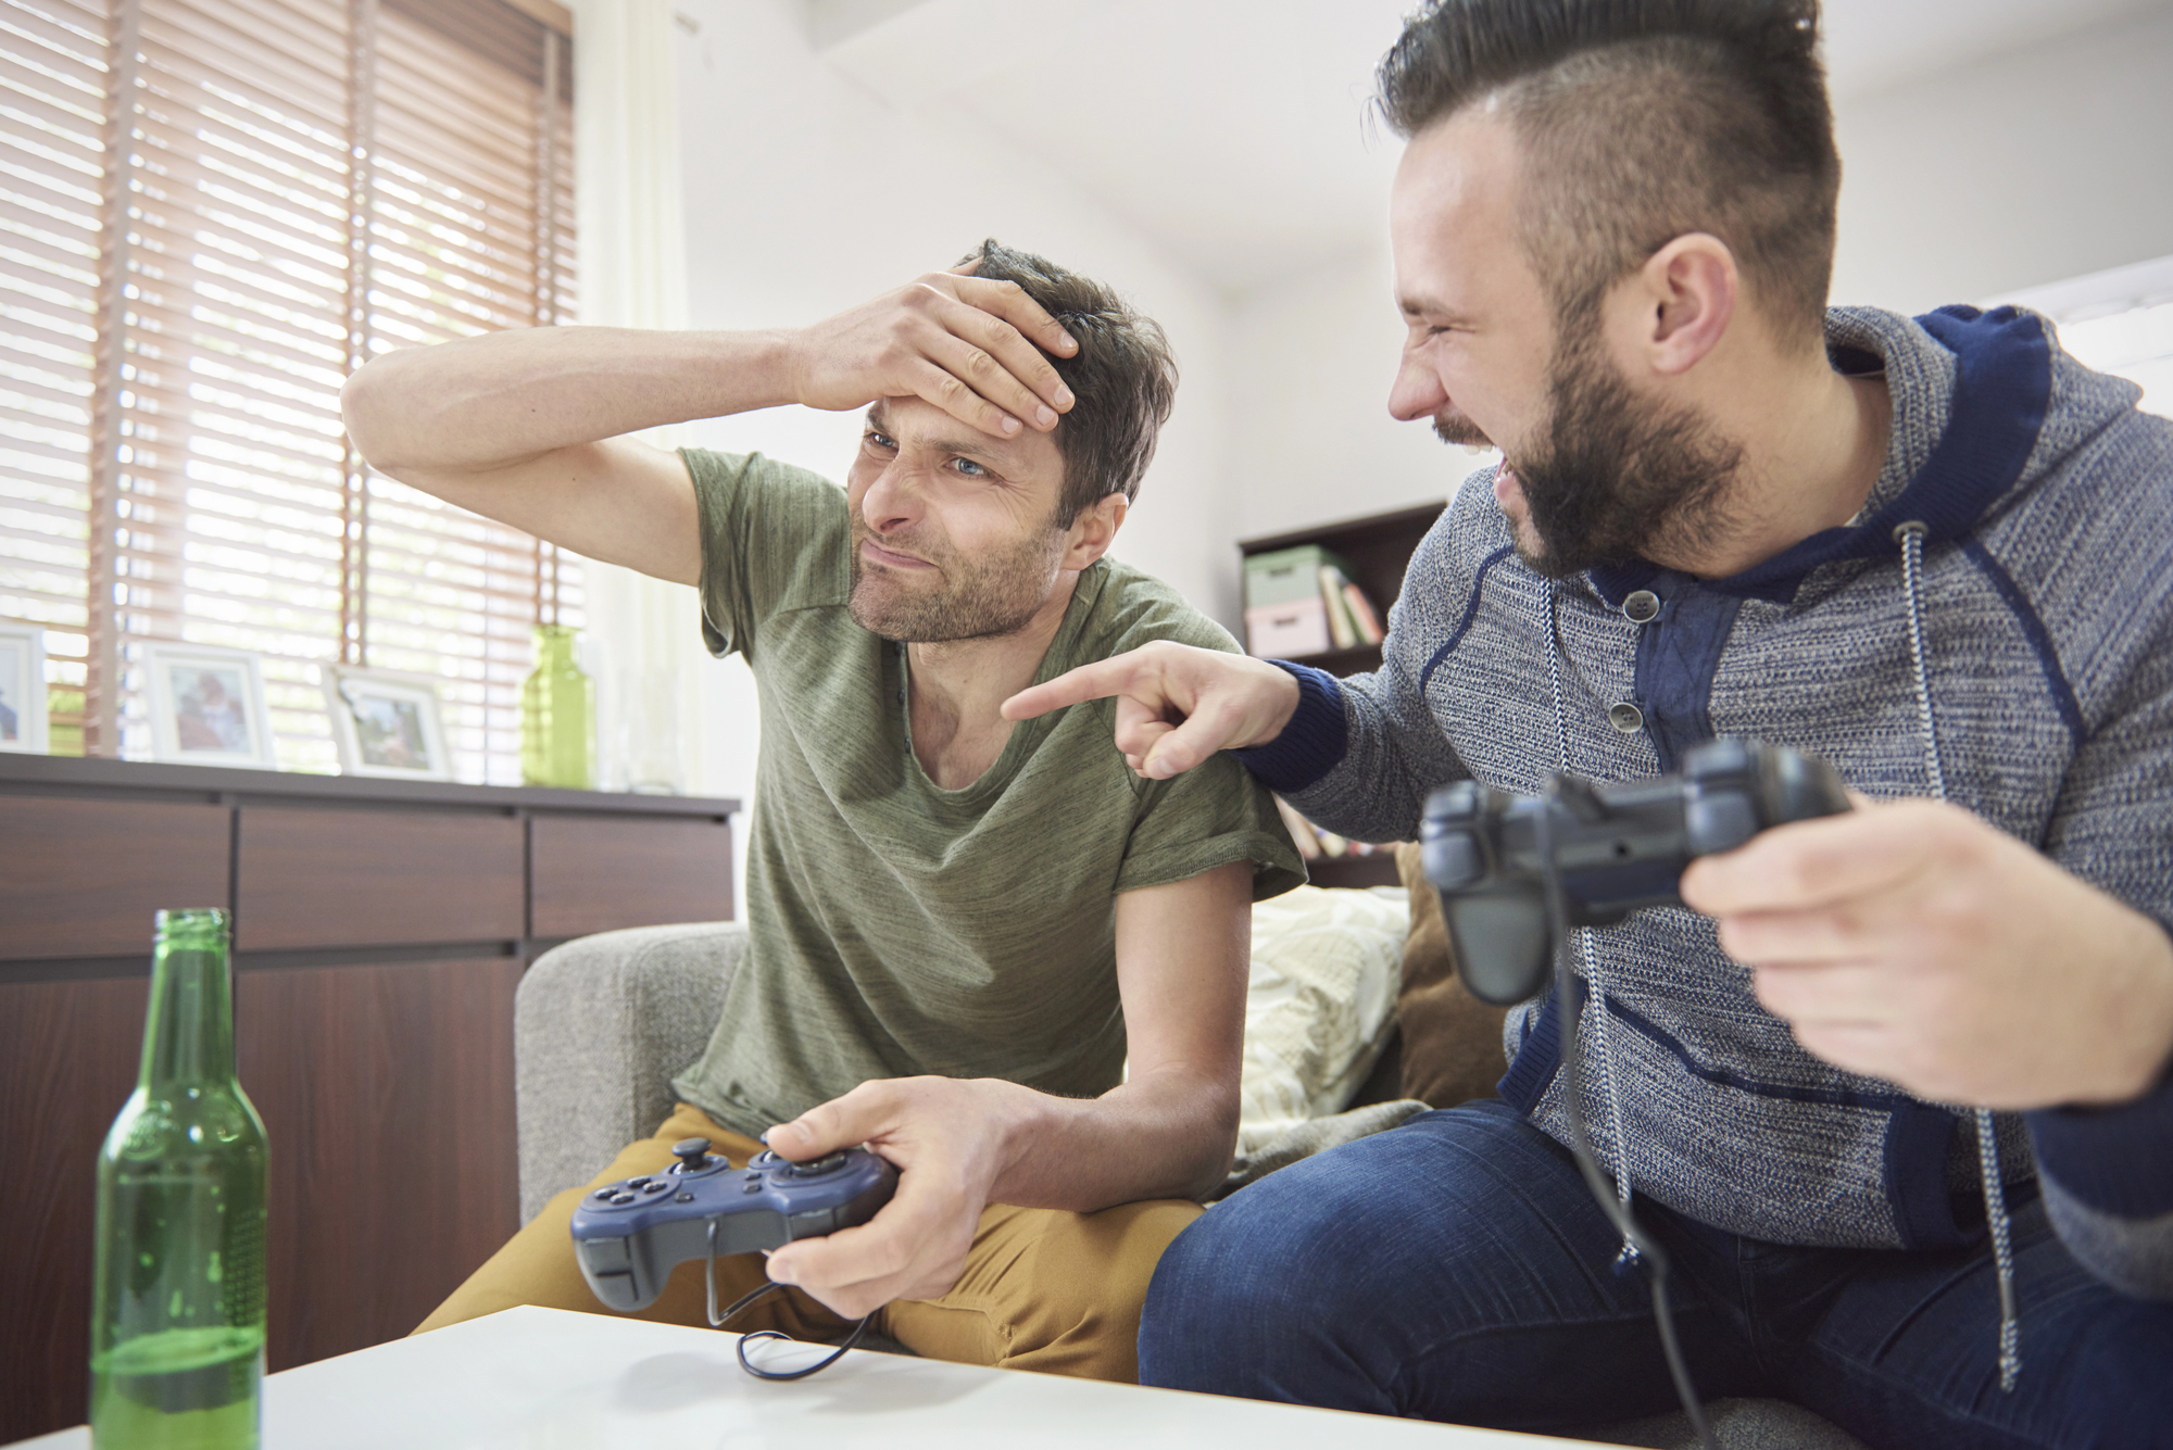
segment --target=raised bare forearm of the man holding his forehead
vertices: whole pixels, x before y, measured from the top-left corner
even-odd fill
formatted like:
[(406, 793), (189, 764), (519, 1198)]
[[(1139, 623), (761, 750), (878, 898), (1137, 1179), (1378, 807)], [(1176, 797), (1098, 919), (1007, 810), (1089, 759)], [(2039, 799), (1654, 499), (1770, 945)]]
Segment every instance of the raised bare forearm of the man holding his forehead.
[(389, 352), (341, 412), (391, 475), (487, 473), (552, 449), (793, 402), (784, 332), (528, 328)]

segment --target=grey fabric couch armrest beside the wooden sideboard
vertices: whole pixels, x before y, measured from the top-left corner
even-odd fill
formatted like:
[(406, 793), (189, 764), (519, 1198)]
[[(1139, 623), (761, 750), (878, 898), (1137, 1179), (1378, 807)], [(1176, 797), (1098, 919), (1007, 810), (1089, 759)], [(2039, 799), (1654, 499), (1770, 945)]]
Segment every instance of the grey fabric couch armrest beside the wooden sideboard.
[(522, 1222), (671, 1114), (671, 1074), (708, 1046), (748, 929), (635, 927), (554, 946), (513, 1001)]

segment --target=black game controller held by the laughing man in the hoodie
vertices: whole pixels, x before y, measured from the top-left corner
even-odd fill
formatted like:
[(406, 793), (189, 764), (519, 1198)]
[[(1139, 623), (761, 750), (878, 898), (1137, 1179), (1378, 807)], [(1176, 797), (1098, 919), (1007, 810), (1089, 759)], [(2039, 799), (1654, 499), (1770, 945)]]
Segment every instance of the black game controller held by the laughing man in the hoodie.
[(1543, 797), (1478, 781), (1425, 799), (1425, 879), (1473, 996), (1512, 1005), (1547, 985), (1554, 940), (1547, 877), (1569, 927), (1610, 927), (1641, 907), (1682, 905), (1682, 870), (1786, 821), (1849, 810), (1834, 766), (1782, 745), (1708, 740), (1682, 775), (1593, 784), (1560, 777)]

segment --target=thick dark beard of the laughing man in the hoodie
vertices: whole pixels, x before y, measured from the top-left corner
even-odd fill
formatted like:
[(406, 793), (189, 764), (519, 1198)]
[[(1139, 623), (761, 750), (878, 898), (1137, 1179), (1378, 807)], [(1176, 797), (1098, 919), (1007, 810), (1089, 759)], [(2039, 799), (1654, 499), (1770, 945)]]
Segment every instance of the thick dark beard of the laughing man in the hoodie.
[[(1462, 432), (1456, 423), (1445, 428)], [(1730, 530), (1721, 497), (1743, 467), (1743, 447), (1695, 408), (1641, 397), (1597, 341), (1578, 341), (1565, 343), (1547, 369), (1547, 423), (1538, 441), (1504, 467), (1515, 473), (1538, 536), (1538, 551), (1519, 543), (1519, 558), (1567, 580), (1595, 564), (1684, 558), (1710, 547)]]

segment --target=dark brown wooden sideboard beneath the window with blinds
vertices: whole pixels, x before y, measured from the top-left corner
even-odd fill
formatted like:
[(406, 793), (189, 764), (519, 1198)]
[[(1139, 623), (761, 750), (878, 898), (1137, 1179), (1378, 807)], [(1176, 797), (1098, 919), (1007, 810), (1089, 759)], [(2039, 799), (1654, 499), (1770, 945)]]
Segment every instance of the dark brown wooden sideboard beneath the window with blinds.
[(739, 801), (0, 753), (0, 1443), (87, 1411), (91, 1181), (152, 912), (235, 920), (274, 1370), (409, 1333), (519, 1226), (513, 990), (732, 916)]

